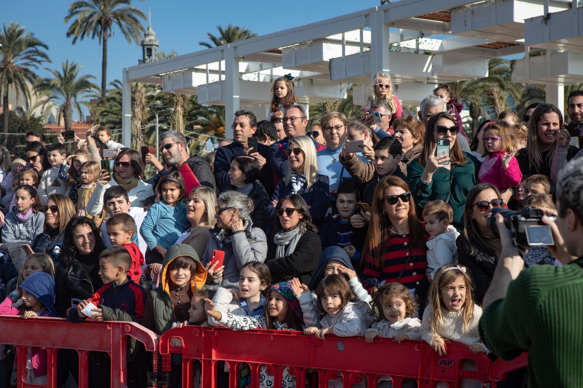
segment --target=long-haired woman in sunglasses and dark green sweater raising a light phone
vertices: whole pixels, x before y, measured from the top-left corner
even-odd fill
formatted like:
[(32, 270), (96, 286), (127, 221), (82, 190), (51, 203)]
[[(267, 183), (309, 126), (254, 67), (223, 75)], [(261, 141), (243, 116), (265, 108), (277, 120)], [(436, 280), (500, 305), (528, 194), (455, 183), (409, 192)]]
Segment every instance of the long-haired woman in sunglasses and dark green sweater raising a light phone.
[[(434, 114), (427, 123), (423, 150), (408, 165), (407, 177), (419, 214), (428, 201), (441, 199), (454, 209), (452, 225), (462, 231), (463, 207), (468, 192), (476, 184), (480, 162), (461, 150), (456, 141), (458, 132), (459, 126), (452, 115)], [(449, 140), (449, 152), (436, 156), (440, 139)]]

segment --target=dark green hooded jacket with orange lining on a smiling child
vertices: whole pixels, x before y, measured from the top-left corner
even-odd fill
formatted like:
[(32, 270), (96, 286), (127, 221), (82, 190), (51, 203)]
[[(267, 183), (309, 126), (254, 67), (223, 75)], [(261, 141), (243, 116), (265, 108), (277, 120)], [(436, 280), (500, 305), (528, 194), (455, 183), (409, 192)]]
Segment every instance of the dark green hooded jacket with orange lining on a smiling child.
[(173, 323), (176, 322), (175, 307), (170, 296), (170, 282), (172, 280), (170, 279), (168, 264), (180, 256), (187, 256), (196, 262), (196, 274), (187, 284), (192, 295), (196, 294), (196, 290), (200, 290), (205, 285), (206, 270), (199, 262), (194, 248), (186, 244), (170, 246), (166, 251), (166, 255), (164, 255), (164, 263), (160, 271), (160, 287), (150, 291), (150, 299), (146, 303), (146, 311), (142, 320), (143, 326), (154, 330), (160, 335), (171, 329)]

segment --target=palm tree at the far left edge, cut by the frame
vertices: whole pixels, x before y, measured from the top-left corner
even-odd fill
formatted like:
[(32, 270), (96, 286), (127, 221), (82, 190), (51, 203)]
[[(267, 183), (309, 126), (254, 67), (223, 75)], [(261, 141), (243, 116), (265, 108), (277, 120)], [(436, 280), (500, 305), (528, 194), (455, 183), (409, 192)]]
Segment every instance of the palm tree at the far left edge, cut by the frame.
[(4, 112), (3, 143), (8, 141), (8, 91), (14, 88), (16, 99), (22, 96), (26, 106), (30, 101), (28, 83), (34, 83), (38, 76), (32, 69), (38, 69), (43, 62), (51, 62), (46, 52), (48, 46), (35, 38), (33, 34), (26, 33), (20, 24), (10, 22), (8, 28), (2, 23), (0, 31), (0, 94), (2, 95), (2, 108)]

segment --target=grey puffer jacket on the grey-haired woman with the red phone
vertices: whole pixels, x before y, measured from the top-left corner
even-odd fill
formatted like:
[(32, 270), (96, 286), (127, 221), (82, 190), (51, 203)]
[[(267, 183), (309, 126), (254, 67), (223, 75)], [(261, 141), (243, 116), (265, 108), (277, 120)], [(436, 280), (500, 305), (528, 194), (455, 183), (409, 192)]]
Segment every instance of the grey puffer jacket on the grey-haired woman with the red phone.
[[(206, 288), (215, 290), (219, 285), (224, 288), (237, 288), (239, 271), (248, 262), (265, 262), (267, 257), (267, 239), (264, 231), (253, 226), (253, 222), (245, 222), (245, 230), (231, 232), (222, 231), (216, 227), (210, 231), (209, 243), (202, 255), (202, 264), (210, 262), (213, 251), (224, 252), (223, 276), (213, 280), (208, 279)], [(226, 238), (225, 238), (226, 237)]]

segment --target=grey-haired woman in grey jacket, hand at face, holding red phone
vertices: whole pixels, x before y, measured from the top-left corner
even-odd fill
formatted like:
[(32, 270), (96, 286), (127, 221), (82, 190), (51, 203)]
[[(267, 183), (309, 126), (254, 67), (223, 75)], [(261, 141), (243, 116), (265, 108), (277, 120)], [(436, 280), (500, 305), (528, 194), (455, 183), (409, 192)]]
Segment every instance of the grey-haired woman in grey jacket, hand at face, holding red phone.
[[(264, 262), (267, 255), (265, 233), (253, 227), (251, 212), (253, 200), (236, 191), (226, 191), (219, 196), (215, 207), (215, 228), (202, 255), (202, 264), (208, 271), (206, 288), (216, 290), (237, 288), (239, 271), (248, 262)], [(213, 251), (223, 251), (221, 267), (211, 266)]]

